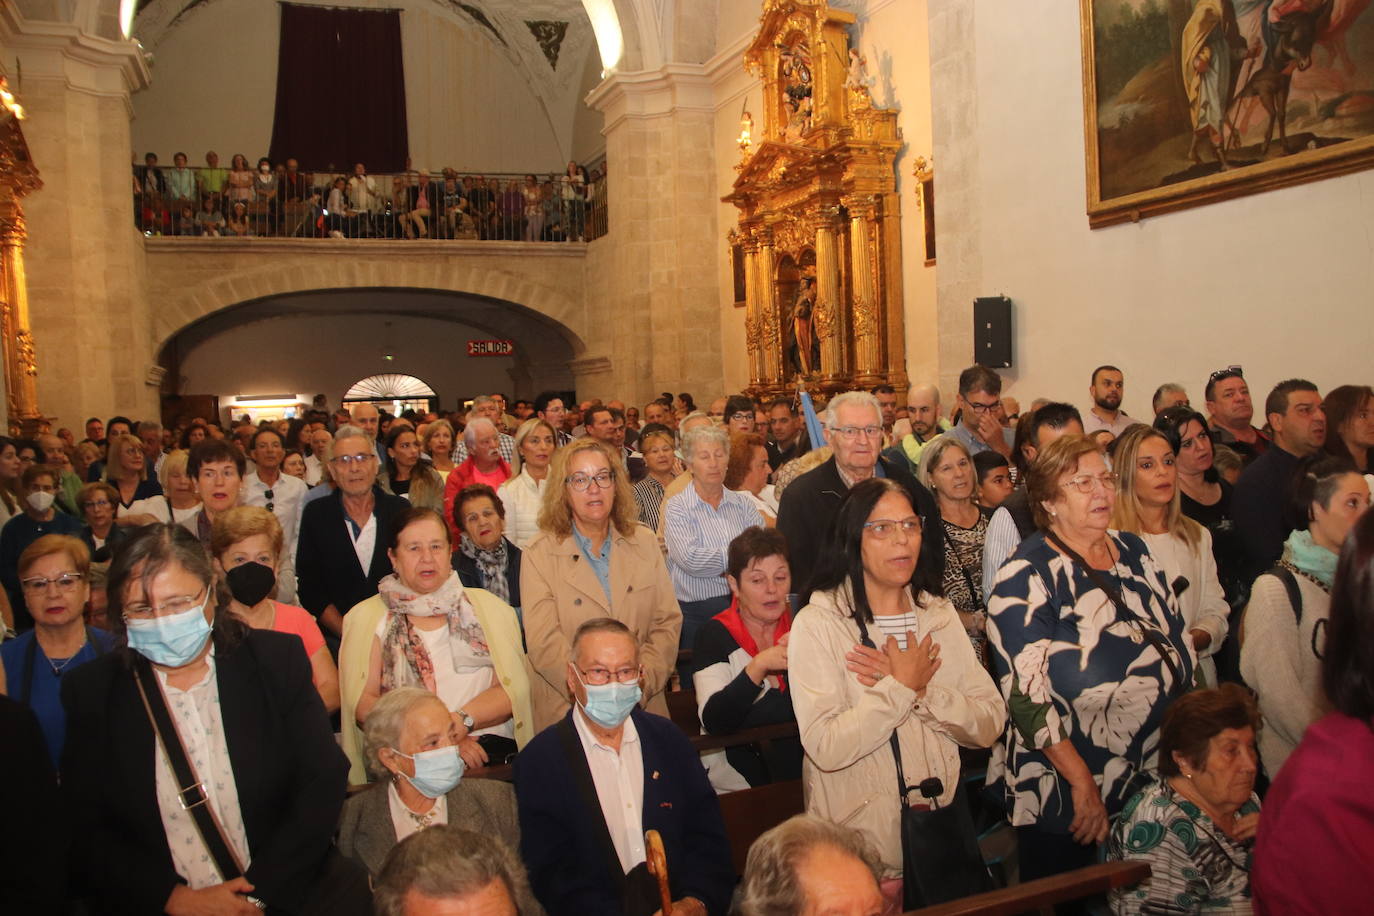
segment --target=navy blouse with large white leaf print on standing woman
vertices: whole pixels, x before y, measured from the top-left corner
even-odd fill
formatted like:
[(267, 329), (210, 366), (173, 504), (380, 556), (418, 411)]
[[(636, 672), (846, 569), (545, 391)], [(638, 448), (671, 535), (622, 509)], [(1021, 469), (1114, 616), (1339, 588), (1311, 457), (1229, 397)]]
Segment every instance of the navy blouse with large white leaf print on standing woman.
[[(1154, 766), (1171, 694), (1193, 681), (1183, 617), (1154, 558), (1135, 534), (1109, 531), (1117, 563), (1098, 575), (1120, 592), (1117, 610), (1087, 570), (1036, 533), (998, 573), (988, 639), (1010, 724), (988, 764), (1011, 823), (1066, 834), (1069, 783), (1044, 753), (1073, 742), (1117, 814)], [(1168, 654), (1168, 661), (1160, 648)]]

